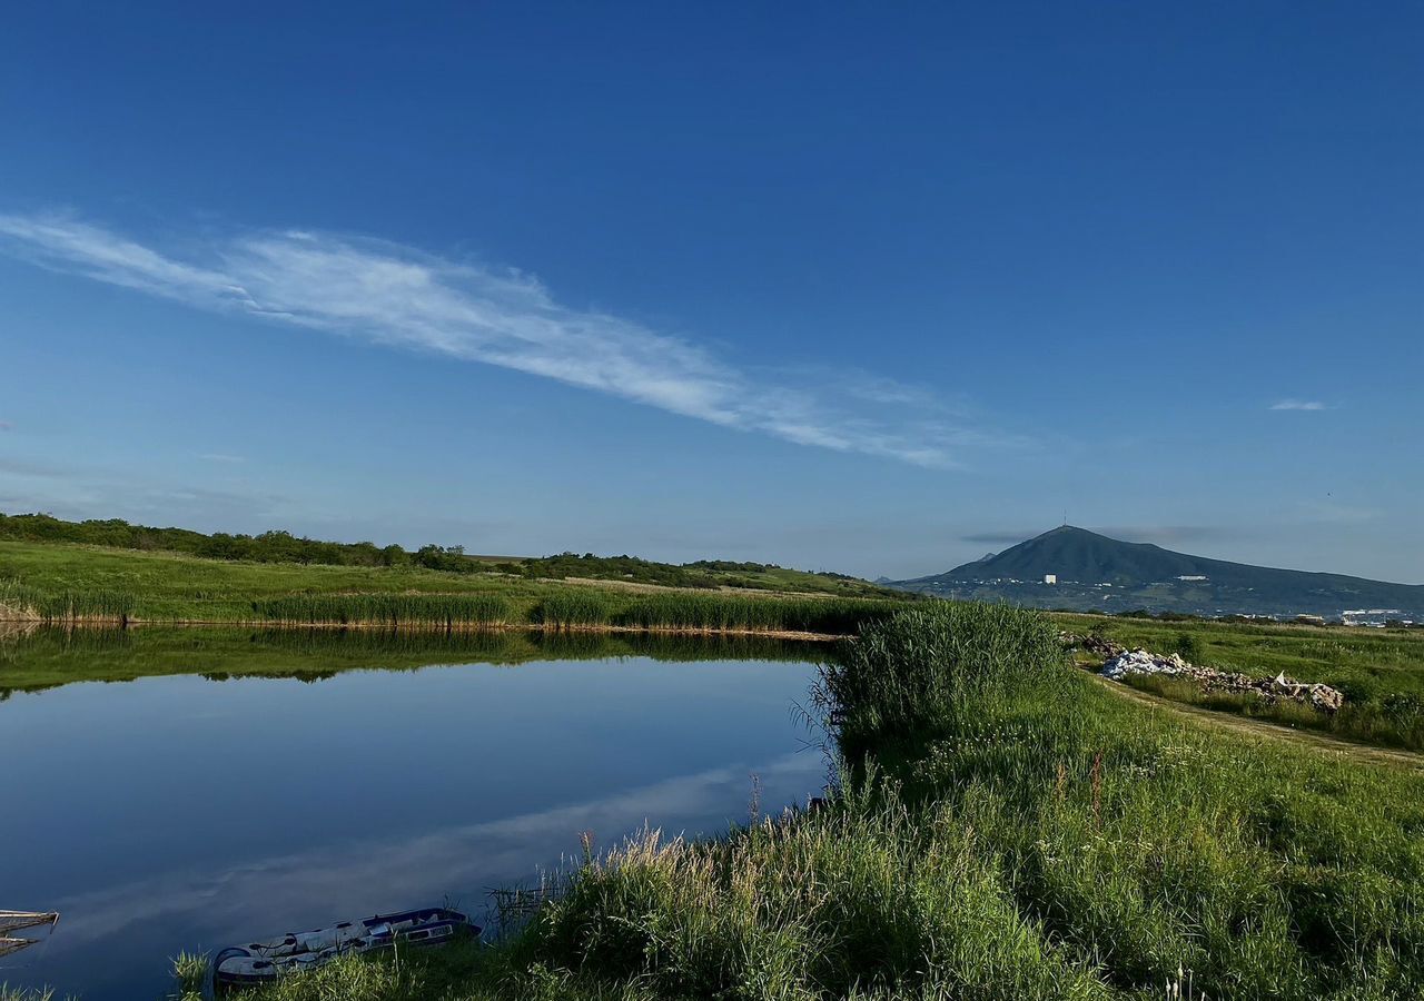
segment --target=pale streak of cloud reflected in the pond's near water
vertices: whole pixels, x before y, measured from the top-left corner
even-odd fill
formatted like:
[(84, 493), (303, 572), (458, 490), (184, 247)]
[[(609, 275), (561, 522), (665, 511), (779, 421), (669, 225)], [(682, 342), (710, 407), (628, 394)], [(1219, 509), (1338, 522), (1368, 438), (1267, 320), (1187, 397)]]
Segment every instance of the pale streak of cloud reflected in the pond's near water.
[[(651, 823), (664, 832), (721, 833), (745, 819), (749, 773), (766, 809), (805, 802), (824, 777), (816, 753), (786, 755), (763, 766), (722, 767), (535, 813), (464, 824), (392, 843), (356, 839), (300, 853), (256, 859), (221, 873), (172, 871), (56, 901), (61, 933), (44, 957), (50, 982), (84, 980), (97, 964), (132, 968), (150, 980), (164, 955), (214, 947), (245, 936), (328, 924), (372, 911), (449, 897), (478, 914), (486, 891), (530, 881), (540, 866), (572, 854), (578, 832), (602, 847)], [(122, 943), (117, 937), (122, 934)], [(114, 940), (112, 944), (105, 940)], [(118, 970), (114, 970), (118, 973)], [(132, 987), (132, 981), (125, 981)], [(85, 998), (97, 995), (85, 990)]]

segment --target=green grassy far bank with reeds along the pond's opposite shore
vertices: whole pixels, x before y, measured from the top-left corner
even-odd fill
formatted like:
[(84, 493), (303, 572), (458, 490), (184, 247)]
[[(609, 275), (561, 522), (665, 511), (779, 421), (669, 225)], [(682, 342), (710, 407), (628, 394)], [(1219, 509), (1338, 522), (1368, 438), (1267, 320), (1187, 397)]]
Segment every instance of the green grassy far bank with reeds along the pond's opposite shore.
[(849, 634), (900, 604), (829, 594), (629, 588), (419, 567), (241, 562), (0, 543), (0, 612), (44, 621)]

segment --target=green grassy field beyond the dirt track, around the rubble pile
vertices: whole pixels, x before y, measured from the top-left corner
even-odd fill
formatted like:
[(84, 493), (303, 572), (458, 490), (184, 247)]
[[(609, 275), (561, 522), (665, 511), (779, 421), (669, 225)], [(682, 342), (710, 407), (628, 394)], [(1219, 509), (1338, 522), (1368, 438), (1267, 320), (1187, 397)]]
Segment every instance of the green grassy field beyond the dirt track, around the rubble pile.
[(1326, 713), (1296, 702), (1267, 702), (1250, 693), (1203, 692), (1176, 678), (1136, 676), (1135, 688), (1188, 705), (1263, 719), (1282, 726), (1408, 750), (1424, 750), (1424, 631), (1245, 622), (1155, 622), (1151, 619), (1057, 615), (1064, 628), (1180, 652), (1193, 664), (1250, 675), (1277, 674), (1324, 682), (1346, 696)]

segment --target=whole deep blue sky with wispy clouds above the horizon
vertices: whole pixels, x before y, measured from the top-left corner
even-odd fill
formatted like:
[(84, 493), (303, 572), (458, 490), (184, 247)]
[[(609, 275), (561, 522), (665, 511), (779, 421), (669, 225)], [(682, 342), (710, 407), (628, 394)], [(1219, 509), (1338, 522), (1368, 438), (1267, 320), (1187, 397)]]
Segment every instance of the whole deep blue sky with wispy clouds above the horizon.
[(1424, 581), (1417, 4), (26, 4), (0, 510)]

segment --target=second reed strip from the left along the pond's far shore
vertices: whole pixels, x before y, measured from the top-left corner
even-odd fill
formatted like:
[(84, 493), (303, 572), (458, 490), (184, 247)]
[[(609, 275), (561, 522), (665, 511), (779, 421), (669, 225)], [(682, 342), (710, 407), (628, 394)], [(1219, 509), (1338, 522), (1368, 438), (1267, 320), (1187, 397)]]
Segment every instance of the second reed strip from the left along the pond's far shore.
[(510, 619), (498, 594), (310, 594), (252, 602), (266, 622), (302, 625), (494, 627)]

